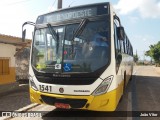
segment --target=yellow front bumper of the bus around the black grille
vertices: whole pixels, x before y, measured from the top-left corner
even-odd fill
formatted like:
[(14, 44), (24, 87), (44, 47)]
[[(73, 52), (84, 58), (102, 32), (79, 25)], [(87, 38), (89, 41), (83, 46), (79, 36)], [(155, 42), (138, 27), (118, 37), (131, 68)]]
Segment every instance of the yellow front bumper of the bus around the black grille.
[(117, 92), (118, 89), (99, 96), (71, 96), (42, 93), (30, 88), (30, 99), (35, 103), (53, 106), (56, 102), (70, 104), (73, 109), (114, 111), (118, 103)]

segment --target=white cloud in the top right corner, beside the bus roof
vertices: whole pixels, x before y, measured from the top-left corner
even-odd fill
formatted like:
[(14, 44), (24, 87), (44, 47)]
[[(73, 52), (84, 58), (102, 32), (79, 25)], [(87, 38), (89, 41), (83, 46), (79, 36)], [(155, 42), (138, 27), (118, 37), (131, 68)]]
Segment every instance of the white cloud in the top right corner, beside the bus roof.
[(114, 7), (122, 15), (128, 15), (137, 10), (143, 18), (160, 18), (160, 1), (158, 0), (119, 0)]

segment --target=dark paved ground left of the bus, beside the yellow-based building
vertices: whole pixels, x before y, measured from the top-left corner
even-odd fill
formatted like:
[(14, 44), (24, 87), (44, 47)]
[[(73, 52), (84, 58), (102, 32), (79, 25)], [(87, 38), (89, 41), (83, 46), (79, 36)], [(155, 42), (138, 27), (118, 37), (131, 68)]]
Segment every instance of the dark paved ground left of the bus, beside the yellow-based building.
[(5, 92), (0, 96), (0, 111), (15, 111), (31, 104), (29, 100), (28, 85)]

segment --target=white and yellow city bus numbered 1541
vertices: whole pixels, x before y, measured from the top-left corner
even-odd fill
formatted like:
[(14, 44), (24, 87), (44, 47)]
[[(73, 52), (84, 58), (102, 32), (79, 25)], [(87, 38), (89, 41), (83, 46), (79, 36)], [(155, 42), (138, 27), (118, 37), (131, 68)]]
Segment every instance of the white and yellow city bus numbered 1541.
[(35, 26), (29, 67), (32, 102), (116, 109), (132, 76), (133, 48), (110, 3), (61, 9), (26, 24)]

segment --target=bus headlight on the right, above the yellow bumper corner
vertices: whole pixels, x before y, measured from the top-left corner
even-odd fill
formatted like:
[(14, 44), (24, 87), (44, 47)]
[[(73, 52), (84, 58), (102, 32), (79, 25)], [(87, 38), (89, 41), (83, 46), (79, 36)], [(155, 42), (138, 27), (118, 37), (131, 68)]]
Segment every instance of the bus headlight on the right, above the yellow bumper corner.
[(103, 80), (103, 82), (98, 86), (98, 88), (93, 92), (92, 95), (101, 95), (107, 92), (113, 80), (113, 76), (109, 76)]

